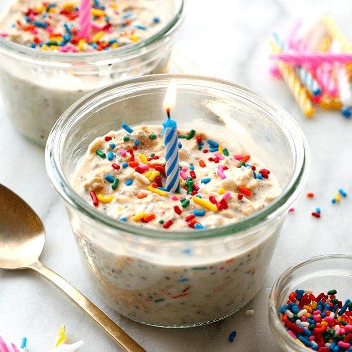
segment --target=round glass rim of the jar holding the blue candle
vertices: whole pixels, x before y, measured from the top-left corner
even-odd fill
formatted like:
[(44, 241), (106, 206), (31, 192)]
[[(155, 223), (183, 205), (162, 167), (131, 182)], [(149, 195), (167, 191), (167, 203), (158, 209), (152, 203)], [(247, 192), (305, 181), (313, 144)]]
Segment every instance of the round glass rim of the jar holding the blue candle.
[[(135, 88), (138, 83), (142, 85), (144, 89), (146, 89), (146, 86), (150, 84), (156, 85), (158, 83), (160, 85), (167, 85), (171, 78), (175, 78), (177, 81), (180, 81), (180, 84), (188, 83), (195, 86), (198, 82), (198, 84), (202, 87), (215, 87), (215, 89), (222, 89), (233, 95), (237, 95), (238, 97), (248, 100), (252, 104), (255, 104), (265, 110), (267, 115), (276, 120), (277, 124), (281, 126), (281, 128), (285, 127), (287, 133), (290, 134), (293, 141), (295, 164), (290, 182), (277, 199), (275, 199), (267, 207), (229, 225), (209, 229), (199, 229), (197, 231), (160, 231), (159, 229), (155, 230), (147, 227), (141, 228), (117, 219), (113, 219), (93, 208), (75, 193), (65, 178), (61, 167), (60, 147), (62, 147), (62, 143), (60, 137), (62, 132), (67, 132), (69, 129), (68, 125), (72, 124), (74, 120), (79, 120), (81, 117), (80, 113), (86, 113), (89, 110), (88, 106), (92, 101), (104, 101), (104, 98), (108, 97), (111, 92), (116, 93), (117, 91), (120, 91), (126, 93), (129, 87)], [(239, 234), (246, 230), (254, 230), (259, 226), (264, 226), (287, 211), (289, 207), (287, 203), (294, 202), (300, 194), (309, 169), (309, 149), (306, 138), (298, 123), (285, 109), (270, 98), (250, 91), (230, 81), (186, 74), (154, 74), (126, 79), (120, 82), (112, 83), (102, 89), (96, 90), (84, 96), (68, 108), (54, 125), (46, 144), (45, 159), (47, 172), (55, 189), (68, 204), (78, 211), (115, 230), (122, 230), (145, 237), (167, 238), (167, 240), (214, 238)]]

